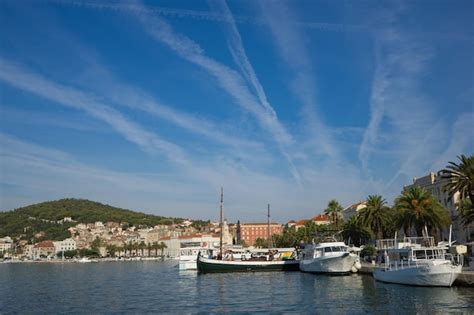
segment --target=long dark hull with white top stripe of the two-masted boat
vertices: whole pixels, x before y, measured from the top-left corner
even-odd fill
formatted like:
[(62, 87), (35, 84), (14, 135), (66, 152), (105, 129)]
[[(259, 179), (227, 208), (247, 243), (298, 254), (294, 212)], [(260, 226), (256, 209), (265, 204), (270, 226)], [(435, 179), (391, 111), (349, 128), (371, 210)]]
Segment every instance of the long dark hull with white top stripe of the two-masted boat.
[(298, 271), (296, 260), (278, 261), (225, 261), (207, 259), (199, 256), (197, 259), (199, 273), (218, 272), (259, 272), (259, 271)]

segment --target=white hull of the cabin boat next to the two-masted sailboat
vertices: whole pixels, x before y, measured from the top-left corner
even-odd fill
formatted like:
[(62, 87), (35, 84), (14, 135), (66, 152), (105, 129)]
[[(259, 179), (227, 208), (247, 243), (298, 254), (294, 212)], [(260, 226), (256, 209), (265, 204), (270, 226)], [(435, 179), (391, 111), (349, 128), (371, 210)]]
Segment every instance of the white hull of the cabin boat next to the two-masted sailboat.
[(340, 256), (319, 257), (300, 261), (300, 270), (310, 273), (348, 274), (358, 256), (344, 253)]

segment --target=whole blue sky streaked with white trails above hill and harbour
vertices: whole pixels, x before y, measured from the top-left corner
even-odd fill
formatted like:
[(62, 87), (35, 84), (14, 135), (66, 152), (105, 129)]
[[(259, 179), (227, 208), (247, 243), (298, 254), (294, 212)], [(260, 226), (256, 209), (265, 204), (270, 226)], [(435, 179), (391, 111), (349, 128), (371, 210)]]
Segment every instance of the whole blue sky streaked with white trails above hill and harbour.
[(474, 151), (472, 1), (2, 1), (0, 209), (308, 218)]

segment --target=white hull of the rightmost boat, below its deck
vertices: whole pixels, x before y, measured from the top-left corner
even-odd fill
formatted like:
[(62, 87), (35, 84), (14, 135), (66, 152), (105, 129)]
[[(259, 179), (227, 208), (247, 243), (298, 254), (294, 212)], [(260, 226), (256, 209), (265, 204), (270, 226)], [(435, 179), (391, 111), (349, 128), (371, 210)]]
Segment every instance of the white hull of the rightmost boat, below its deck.
[(414, 286), (450, 287), (461, 273), (462, 266), (426, 265), (399, 270), (375, 268), (375, 280)]

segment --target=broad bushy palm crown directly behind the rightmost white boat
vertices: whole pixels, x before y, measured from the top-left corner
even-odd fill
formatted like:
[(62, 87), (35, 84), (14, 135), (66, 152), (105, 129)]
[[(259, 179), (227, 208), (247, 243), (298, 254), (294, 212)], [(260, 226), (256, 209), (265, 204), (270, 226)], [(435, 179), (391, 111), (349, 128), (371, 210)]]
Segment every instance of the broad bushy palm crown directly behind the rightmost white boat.
[(403, 228), (405, 234), (414, 228), (418, 235), (423, 228), (440, 229), (449, 225), (448, 211), (424, 188), (414, 186), (403, 190), (395, 199), (398, 211), (396, 227)]

